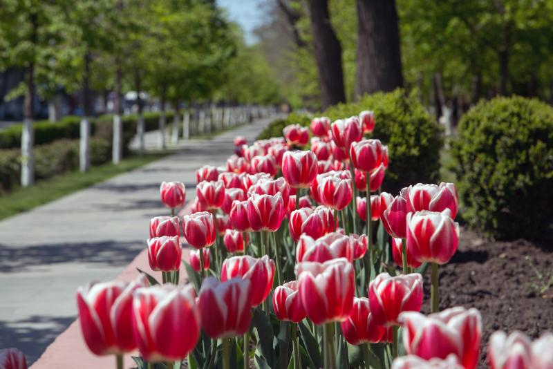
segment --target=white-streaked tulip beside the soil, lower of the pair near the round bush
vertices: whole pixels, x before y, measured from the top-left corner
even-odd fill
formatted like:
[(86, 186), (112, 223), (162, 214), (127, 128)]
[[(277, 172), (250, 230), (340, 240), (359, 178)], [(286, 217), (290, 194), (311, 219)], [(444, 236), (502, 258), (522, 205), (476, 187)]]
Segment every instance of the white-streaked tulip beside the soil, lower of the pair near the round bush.
[(459, 224), (449, 217), (449, 209), (407, 214), (407, 249), (416, 261), (445, 264), (458, 243)]

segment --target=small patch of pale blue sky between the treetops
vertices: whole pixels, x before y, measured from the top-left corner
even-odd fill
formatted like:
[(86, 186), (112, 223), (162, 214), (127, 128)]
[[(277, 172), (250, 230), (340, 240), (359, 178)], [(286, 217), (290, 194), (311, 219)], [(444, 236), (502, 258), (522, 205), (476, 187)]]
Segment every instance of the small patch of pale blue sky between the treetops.
[(246, 43), (253, 44), (256, 41), (253, 30), (263, 22), (265, 0), (217, 0), (217, 3), (227, 10), (232, 21), (240, 24)]

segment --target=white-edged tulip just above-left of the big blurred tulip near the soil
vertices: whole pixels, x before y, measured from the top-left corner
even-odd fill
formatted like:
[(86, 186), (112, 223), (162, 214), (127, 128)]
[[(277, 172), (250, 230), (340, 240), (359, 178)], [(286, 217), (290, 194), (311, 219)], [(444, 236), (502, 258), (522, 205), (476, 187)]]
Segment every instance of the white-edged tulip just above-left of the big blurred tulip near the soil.
[(392, 277), (380, 273), (368, 285), (368, 300), (379, 325), (399, 325), (401, 312), (418, 312), (422, 307), (422, 276), (413, 273)]

